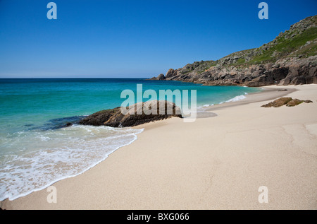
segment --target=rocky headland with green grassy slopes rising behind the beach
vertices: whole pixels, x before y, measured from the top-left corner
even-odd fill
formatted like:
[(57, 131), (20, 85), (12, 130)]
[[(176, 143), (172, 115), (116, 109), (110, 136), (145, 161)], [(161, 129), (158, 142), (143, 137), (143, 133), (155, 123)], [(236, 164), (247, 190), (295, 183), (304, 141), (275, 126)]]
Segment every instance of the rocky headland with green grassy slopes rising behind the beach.
[(311, 16), (259, 48), (235, 52), (218, 61), (196, 61), (151, 79), (209, 86), (317, 83), (316, 52), (317, 16)]

